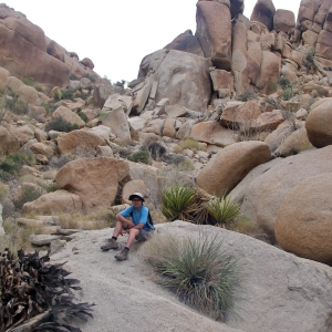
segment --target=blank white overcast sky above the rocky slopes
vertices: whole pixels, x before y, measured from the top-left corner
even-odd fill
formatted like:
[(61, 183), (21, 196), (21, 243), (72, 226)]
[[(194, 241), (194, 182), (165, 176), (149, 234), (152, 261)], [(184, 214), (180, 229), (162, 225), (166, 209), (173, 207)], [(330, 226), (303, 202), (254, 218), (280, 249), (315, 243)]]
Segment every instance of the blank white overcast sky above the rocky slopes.
[[(245, 0), (250, 18), (257, 0)], [(274, 0), (276, 9), (298, 15), (300, 0)], [(141, 60), (190, 29), (197, 0), (7, 0), (6, 3), (112, 82), (136, 79)]]

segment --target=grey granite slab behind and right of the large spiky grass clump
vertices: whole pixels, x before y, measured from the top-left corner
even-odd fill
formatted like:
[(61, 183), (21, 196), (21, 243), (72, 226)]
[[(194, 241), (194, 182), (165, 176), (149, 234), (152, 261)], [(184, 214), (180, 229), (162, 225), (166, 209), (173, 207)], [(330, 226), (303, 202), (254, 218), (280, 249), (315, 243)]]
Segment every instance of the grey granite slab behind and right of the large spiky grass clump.
[(206, 232), (222, 242), (222, 252), (238, 255), (241, 276), (246, 277), (235, 294), (235, 314), (227, 319), (229, 326), (252, 332), (329, 331), (330, 267), (222, 228), (174, 221), (158, 227), (159, 231), (162, 236), (170, 232), (170, 237), (190, 235), (195, 239)]

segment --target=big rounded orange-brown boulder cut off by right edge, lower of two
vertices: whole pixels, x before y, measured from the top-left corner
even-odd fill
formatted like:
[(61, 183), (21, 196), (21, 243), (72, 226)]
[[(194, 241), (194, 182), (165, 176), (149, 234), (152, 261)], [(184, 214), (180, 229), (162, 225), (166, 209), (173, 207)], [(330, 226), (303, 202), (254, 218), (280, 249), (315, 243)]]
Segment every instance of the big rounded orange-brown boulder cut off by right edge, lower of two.
[(332, 173), (310, 177), (288, 193), (276, 218), (279, 246), (300, 257), (332, 262)]

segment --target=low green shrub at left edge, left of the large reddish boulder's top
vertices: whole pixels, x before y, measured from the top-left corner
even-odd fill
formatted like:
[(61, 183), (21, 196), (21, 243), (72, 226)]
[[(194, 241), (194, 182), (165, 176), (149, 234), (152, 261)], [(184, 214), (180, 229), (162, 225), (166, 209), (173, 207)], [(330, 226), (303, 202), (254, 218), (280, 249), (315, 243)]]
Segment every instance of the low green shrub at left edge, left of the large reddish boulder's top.
[(0, 178), (8, 180), (17, 174), (23, 165), (34, 165), (35, 157), (32, 153), (12, 153), (0, 158)]

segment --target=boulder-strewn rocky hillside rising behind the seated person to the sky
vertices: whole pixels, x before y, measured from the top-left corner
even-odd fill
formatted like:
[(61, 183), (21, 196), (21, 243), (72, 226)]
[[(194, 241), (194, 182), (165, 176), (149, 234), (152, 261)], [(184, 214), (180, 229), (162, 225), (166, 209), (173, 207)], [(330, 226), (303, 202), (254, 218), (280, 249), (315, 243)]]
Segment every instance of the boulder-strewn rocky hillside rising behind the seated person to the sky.
[(331, 263), (332, 0), (303, 0), (298, 22), (271, 0), (242, 11), (198, 1), (196, 33), (146, 55), (125, 90), (1, 4), (3, 218), (50, 224), (137, 190), (157, 210), (165, 185), (196, 183), (269, 243)]

